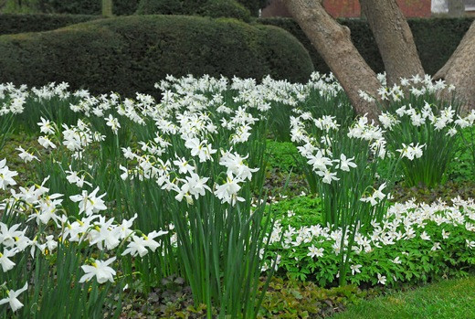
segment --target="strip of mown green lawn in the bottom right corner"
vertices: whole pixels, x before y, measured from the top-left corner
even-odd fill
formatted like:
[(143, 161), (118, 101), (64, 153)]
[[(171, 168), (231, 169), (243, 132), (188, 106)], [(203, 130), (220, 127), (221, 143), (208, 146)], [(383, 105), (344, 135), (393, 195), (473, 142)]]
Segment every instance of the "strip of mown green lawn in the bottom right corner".
[(332, 318), (475, 318), (475, 277), (392, 292), (352, 305)]

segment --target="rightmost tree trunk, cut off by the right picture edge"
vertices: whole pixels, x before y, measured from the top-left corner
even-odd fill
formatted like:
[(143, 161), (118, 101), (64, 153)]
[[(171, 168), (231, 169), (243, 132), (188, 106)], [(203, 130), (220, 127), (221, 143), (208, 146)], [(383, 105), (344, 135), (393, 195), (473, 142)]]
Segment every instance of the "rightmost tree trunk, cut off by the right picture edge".
[(475, 21), (434, 80), (446, 80), (448, 84), (453, 84), (455, 97), (464, 103), (463, 109), (475, 110)]

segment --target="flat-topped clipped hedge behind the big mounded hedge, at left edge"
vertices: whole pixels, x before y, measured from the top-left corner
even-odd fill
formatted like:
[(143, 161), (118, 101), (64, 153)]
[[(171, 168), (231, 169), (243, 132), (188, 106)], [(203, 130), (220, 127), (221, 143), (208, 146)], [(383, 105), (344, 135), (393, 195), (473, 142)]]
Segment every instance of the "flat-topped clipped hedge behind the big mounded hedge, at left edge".
[(73, 16), (73, 15), (0, 15), (0, 35), (9, 35), (24, 32), (40, 32), (54, 30), (59, 27), (75, 25), (101, 16)]

